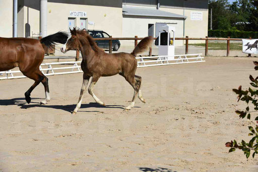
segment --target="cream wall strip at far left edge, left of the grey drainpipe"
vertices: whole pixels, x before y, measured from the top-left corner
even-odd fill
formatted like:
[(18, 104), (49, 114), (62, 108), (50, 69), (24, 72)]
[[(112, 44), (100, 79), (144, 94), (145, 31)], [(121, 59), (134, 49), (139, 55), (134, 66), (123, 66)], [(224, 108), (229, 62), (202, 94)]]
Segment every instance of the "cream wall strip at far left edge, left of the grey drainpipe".
[(0, 1), (0, 37), (13, 37), (13, 1)]

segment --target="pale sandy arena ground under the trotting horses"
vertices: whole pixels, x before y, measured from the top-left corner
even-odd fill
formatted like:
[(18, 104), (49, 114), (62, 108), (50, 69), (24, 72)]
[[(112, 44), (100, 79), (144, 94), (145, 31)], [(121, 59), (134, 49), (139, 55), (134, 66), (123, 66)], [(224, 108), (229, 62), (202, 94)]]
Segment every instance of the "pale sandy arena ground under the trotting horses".
[[(82, 73), (49, 76), (52, 100), (43, 85), (31, 104), (24, 93), (31, 79), (0, 81), (0, 171), (258, 171), (257, 157), (228, 153), (225, 142), (248, 139), (252, 122), (234, 113), (232, 88), (247, 88), (257, 75), (256, 58), (208, 57), (205, 63), (138, 68), (142, 92), (133, 96), (119, 75), (101, 77), (75, 116)], [(258, 59), (257, 59), (258, 60)]]

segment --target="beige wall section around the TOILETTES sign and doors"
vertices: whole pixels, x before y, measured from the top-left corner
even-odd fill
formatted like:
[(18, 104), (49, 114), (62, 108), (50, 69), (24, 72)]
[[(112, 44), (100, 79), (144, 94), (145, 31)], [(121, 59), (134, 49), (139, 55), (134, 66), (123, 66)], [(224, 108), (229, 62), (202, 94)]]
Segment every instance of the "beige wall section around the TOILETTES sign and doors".
[[(122, 36), (122, 8), (60, 3), (48, 3), (47, 8), (48, 35), (68, 31), (70, 11), (81, 11), (87, 13), (88, 22), (95, 23), (95, 26), (88, 24), (88, 29), (104, 30), (113, 37)], [(76, 17), (76, 26), (80, 27), (80, 17)]]

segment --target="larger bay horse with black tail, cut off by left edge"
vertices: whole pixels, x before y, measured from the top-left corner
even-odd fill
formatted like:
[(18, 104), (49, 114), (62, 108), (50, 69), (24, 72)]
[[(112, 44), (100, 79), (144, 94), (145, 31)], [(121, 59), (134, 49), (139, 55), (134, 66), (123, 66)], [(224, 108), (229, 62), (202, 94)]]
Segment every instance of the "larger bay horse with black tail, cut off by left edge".
[(0, 37), (0, 71), (10, 70), (19, 66), (20, 71), (35, 82), (25, 93), (26, 102), (31, 102), (30, 94), (42, 82), (46, 98), (41, 104), (50, 101), (48, 78), (39, 70), (44, 58), (41, 44), (51, 46), (55, 43), (66, 43), (68, 34), (57, 32), (42, 39), (31, 38), (1, 38)]

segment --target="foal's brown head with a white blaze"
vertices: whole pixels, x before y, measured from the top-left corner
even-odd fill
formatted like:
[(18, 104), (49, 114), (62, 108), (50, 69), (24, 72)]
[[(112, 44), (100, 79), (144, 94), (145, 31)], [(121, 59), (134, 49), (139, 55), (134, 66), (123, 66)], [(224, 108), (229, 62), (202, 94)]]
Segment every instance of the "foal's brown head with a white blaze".
[(66, 44), (61, 48), (62, 53), (66, 53), (69, 50), (79, 50), (79, 37), (76, 28), (70, 29), (71, 35), (68, 37)]

